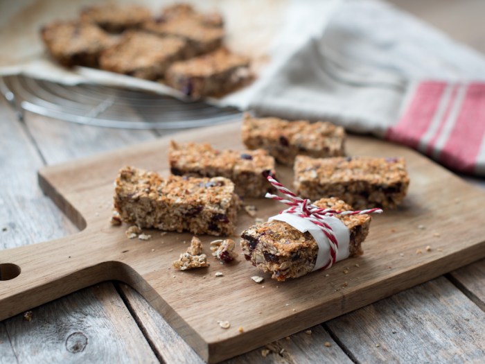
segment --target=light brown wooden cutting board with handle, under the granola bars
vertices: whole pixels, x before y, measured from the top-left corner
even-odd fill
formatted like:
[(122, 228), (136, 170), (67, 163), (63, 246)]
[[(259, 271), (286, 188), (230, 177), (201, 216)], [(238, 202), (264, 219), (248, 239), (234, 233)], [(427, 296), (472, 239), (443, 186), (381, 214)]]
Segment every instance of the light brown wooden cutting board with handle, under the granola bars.
[[(240, 123), (171, 138), (243, 148)], [(132, 165), (168, 175), (168, 141), (162, 138), (39, 171), (44, 192), (82, 231), (56, 241), (0, 251), (0, 320), (116, 279), (139, 291), (202, 358), (215, 363), (485, 257), (484, 191), (413, 150), (351, 136), (349, 155), (403, 156), (411, 178), (403, 205), (373, 216), (362, 257), (276, 282), (243, 257), (220, 264), (209, 250), (209, 242), (216, 238), (201, 236), (211, 266), (175, 271), (171, 263), (186, 250), (191, 234), (162, 236), (147, 230), (150, 241), (130, 240), (125, 236), (127, 225), (109, 223), (118, 169)], [(277, 168), (277, 172), (290, 187), (290, 168)], [(246, 202), (258, 207), (260, 218), (284, 207), (266, 199)], [(237, 231), (252, 224), (254, 218), (241, 211)], [(238, 236), (233, 239), (238, 241)], [(215, 277), (218, 271), (222, 277)], [(256, 284), (251, 279), (254, 275), (265, 281)], [(219, 320), (229, 321), (231, 327), (222, 329)]]

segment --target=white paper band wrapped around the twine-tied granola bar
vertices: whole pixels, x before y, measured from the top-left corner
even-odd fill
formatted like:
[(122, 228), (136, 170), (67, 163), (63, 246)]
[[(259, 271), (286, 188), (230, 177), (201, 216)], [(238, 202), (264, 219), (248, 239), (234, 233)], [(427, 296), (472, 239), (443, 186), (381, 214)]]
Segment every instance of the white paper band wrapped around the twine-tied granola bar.
[[(272, 216), (268, 221), (279, 220), (290, 224), (299, 232), (309, 232), (318, 244), (317, 261), (313, 270), (319, 270), (327, 265), (330, 260), (330, 242), (324, 232), (307, 218), (302, 218), (296, 214), (278, 214)], [(349, 257), (350, 231), (341, 220), (333, 216), (327, 216), (325, 222), (332, 228), (333, 234), (339, 243), (336, 261), (341, 261)]]

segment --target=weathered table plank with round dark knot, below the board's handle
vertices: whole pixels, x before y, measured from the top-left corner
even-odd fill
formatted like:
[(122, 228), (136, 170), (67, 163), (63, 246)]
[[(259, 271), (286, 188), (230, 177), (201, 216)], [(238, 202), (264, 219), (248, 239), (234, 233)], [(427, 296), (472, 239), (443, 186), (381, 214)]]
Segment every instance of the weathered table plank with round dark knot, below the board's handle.
[(110, 283), (6, 321), (21, 363), (158, 363)]

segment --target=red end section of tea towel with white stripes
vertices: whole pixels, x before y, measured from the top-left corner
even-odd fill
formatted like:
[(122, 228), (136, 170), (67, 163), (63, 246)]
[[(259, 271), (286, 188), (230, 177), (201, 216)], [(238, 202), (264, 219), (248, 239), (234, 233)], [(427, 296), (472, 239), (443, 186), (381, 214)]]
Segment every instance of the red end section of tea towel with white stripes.
[(455, 171), (485, 175), (485, 83), (416, 83), (402, 110), (387, 139)]

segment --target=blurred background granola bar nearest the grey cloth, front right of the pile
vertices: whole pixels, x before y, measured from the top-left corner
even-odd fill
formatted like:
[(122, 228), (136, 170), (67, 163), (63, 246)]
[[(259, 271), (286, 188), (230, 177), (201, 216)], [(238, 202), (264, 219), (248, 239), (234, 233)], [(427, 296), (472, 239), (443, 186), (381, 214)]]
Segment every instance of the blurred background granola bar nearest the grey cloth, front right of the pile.
[(193, 98), (222, 96), (250, 80), (249, 60), (227, 49), (175, 62), (166, 73), (167, 85)]

